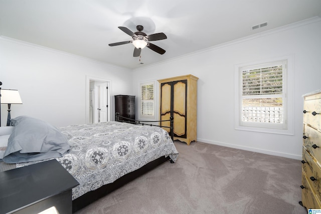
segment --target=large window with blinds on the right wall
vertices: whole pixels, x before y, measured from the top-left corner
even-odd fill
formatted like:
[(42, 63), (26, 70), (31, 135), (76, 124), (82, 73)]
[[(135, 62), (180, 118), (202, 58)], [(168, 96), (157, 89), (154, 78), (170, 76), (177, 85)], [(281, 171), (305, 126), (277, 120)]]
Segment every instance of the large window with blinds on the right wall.
[(239, 68), (240, 126), (287, 129), (287, 61)]

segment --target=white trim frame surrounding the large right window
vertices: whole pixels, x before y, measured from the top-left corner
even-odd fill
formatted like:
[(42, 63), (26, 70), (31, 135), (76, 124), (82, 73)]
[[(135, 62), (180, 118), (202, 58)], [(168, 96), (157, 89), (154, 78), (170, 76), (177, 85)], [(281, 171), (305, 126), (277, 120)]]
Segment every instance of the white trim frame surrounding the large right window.
[[(242, 71), (285, 63), (282, 71), (282, 106), (283, 123), (249, 122), (242, 120), (243, 77)], [(276, 134), (294, 134), (293, 120), (293, 61), (292, 56), (285, 56), (266, 61), (235, 65), (235, 129)], [(272, 96), (273, 97), (273, 96)]]

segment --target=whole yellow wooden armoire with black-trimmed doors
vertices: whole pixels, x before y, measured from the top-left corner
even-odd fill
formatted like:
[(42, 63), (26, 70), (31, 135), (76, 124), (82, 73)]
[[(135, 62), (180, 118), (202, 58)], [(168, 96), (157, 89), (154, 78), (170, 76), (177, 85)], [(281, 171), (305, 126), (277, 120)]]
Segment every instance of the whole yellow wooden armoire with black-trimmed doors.
[[(160, 86), (160, 120), (174, 116), (174, 140), (188, 145), (197, 140), (197, 80), (185, 75), (157, 80)], [(170, 122), (161, 125), (170, 126)], [(170, 132), (170, 129), (167, 131)]]

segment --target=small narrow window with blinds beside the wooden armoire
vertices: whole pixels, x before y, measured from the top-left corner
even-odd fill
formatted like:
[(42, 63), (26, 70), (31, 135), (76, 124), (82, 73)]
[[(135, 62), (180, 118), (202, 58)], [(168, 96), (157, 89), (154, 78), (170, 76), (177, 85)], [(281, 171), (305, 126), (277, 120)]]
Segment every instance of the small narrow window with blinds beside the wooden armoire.
[(140, 84), (140, 118), (155, 118), (154, 83)]

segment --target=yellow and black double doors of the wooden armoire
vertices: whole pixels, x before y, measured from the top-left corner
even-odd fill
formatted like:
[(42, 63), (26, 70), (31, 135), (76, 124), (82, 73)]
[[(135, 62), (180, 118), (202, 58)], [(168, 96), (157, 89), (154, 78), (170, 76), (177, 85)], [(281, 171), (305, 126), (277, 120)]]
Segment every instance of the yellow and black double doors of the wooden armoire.
[[(174, 116), (174, 137), (187, 137), (187, 80), (161, 84), (161, 120)], [(170, 126), (170, 122), (161, 125)], [(167, 129), (170, 132), (170, 129)], [(171, 134), (171, 133), (170, 133)]]

